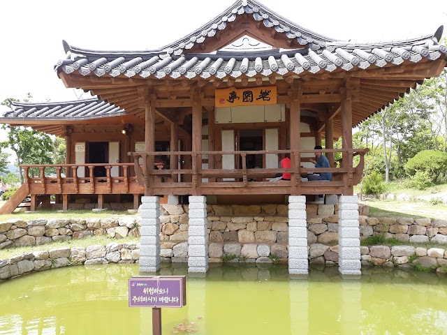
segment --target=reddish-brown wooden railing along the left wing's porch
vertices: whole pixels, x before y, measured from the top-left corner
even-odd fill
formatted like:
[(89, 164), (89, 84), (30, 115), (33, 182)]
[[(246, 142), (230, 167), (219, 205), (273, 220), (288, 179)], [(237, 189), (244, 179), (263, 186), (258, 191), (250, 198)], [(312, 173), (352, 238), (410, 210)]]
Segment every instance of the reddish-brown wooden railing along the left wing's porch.
[[(119, 176), (112, 177), (111, 169), (119, 167)], [(104, 177), (94, 177), (96, 167), (105, 168)], [(27, 192), (31, 194), (136, 194), (143, 193), (143, 188), (136, 182), (136, 177), (129, 177), (132, 163), (112, 164), (50, 164), (20, 165), (24, 170)], [(38, 177), (30, 177), (29, 169), (38, 168)], [(72, 177), (65, 177), (61, 170), (71, 171)], [(78, 177), (78, 168), (88, 170), (87, 177)], [(52, 173), (49, 173), (49, 170)]]

